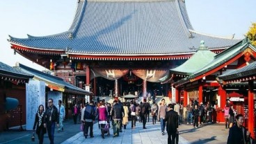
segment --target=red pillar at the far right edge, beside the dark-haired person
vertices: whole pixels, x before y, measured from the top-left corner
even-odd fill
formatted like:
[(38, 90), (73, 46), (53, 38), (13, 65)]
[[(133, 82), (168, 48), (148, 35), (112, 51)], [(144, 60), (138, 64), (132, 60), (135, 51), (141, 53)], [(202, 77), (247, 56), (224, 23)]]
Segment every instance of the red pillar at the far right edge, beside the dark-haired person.
[(250, 80), (248, 82), (248, 86), (249, 86), (249, 89), (248, 89), (248, 130), (250, 132), (250, 136), (255, 138), (255, 134), (253, 133), (253, 128), (254, 128), (253, 80)]

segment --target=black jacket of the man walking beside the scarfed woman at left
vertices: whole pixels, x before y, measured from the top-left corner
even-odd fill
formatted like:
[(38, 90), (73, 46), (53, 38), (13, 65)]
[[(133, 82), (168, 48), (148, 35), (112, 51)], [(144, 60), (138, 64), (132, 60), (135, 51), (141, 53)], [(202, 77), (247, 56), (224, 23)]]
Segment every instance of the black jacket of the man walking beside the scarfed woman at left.
[[(51, 111), (52, 111), (52, 114), (51, 114)], [(45, 123), (56, 122), (58, 124), (59, 122), (58, 109), (57, 107), (55, 107), (55, 105), (52, 108), (47, 107), (45, 114), (46, 114), (45, 120), (44, 120)], [(50, 116), (51, 116), (51, 121), (50, 121)]]

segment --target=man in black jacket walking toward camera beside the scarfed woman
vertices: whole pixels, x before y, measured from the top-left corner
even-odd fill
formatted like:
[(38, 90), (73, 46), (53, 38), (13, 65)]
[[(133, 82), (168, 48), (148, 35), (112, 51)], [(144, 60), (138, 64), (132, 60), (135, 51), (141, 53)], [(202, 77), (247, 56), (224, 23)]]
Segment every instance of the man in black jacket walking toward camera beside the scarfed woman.
[(48, 100), (48, 107), (45, 111), (45, 115), (44, 127), (47, 128), (50, 144), (54, 144), (54, 129), (56, 124), (57, 127), (59, 126), (58, 123), (60, 118), (58, 118), (58, 109), (54, 105), (54, 100), (51, 98)]

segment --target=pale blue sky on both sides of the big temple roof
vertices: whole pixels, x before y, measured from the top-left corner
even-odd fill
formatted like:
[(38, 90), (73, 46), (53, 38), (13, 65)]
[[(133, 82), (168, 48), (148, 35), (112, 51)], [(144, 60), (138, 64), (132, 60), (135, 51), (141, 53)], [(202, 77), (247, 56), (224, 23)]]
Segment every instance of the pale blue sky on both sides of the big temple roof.
[[(171, 1), (171, 0), (170, 0)], [(14, 55), (6, 39), (52, 35), (67, 30), (74, 17), (77, 0), (0, 1), (0, 62), (16, 62), (44, 70), (42, 66)], [(241, 39), (256, 22), (255, 0), (186, 0), (193, 28), (201, 33)]]

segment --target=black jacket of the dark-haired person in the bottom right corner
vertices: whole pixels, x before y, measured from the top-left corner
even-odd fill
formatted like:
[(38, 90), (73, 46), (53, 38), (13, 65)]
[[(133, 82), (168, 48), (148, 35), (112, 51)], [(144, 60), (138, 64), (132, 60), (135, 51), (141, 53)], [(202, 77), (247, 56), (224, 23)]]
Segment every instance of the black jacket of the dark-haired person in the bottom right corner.
[(244, 127), (239, 128), (237, 127), (237, 124), (236, 124), (230, 128), (230, 133), (228, 134), (228, 138), (227, 138), (227, 144), (241, 144), (243, 143), (243, 138), (246, 139), (246, 129)]

